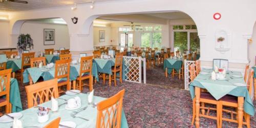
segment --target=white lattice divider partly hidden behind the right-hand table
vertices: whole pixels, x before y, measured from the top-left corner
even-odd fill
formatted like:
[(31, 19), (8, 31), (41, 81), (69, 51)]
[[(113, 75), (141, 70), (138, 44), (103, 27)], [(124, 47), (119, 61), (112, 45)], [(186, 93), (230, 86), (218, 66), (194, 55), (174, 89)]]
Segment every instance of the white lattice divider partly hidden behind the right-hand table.
[(184, 78), (185, 78), (185, 90), (189, 90), (189, 88), (188, 88), (188, 86), (189, 86), (189, 84), (190, 84), (190, 82), (191, 82), (191, 79), (190, 79), (190, 76), (189, 76), (189, 66), (191, 65), (191, 64), (195, 64), (196, 62), (195, 61), (188, 61), (188, 60), (185, 60), (184, 61), (184, 70), (185, 70), (185, 76), (184, 76)]

